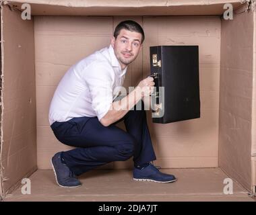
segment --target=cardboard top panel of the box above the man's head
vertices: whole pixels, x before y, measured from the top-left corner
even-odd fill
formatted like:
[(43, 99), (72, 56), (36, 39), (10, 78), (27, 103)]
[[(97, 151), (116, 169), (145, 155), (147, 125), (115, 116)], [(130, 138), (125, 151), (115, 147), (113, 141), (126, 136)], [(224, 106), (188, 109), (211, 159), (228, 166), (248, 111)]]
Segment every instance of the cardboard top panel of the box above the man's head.
[(20, 7), (30, 3), (32, 15), (221, 15), (224, 3), (234, 9), (240, 0), (101, 0), (101, 1), (9, 1)]

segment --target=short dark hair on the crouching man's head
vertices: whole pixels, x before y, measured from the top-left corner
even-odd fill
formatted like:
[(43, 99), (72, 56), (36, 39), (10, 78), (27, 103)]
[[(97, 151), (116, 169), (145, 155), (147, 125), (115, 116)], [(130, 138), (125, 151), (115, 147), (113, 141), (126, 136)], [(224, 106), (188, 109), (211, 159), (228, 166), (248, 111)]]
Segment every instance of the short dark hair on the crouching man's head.
[(137, 22), (134, 22), (133, 20), (125, 20), (123, 22), (120, 22), (117, 27), (115, 28), (114, 37), (117, 39), (117, 36), (119, 36), (122, 29), (129, 30), (131, 32), (137, 32), (141, 34), (141, 44), (144, 41), (145, 34), (141, 26), (137, 24)]

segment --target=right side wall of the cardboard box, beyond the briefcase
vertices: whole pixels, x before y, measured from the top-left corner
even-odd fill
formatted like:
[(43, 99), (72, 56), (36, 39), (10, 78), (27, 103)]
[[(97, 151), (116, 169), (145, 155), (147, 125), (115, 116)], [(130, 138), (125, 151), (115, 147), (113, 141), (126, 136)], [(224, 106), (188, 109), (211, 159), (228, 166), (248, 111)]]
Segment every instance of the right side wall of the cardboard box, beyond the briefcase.
[(219, 165), (251, 190), (253, 12), (222, 20)]

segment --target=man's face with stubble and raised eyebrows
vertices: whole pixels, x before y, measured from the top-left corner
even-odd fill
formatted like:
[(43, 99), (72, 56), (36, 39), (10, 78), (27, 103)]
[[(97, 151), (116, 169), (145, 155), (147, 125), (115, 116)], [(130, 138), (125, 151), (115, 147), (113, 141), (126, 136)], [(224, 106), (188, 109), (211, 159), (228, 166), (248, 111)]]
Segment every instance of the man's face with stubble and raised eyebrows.
[(111, 39), (111, 45), (122, 69), (125, 69), (129, 63), (133, 62), (139, 54), (139, 50), (142, 47), (141, 38), (140, 33), (122, 29), (119, 36), (117, 36), (117, 40), (114, 36)]

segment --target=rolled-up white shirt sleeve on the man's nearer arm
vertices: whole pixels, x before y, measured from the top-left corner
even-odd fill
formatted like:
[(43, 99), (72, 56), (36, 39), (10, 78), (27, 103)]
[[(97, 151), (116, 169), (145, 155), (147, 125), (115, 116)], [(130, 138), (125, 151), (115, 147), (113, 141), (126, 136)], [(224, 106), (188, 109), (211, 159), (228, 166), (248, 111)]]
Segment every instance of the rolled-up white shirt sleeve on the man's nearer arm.
[(113, 102), (115, 75), (113, 68), (104, 62), (93, 62), (86, 69), (84, 80), (90, 91), (92, 109), (101, 120)]

